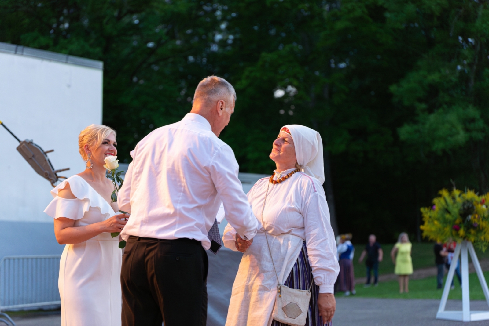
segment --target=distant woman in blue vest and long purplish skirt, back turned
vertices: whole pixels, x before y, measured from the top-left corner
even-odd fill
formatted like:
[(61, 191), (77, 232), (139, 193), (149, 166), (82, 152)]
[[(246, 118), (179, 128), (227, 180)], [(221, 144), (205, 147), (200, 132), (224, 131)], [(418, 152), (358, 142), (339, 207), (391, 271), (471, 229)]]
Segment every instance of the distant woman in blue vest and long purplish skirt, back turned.
[(355, 247), (350, 242), (352, 234), (342, 234), (340, 236), (339, 245), (336, 249), (337, 258), (339, 261), (339, 275), (335, 284), (335, 292), (345, 292), (346, 296), (350, 293), (356, 294), (355, 291), (355, 276), (353, 272), (353, 256), (355, 255)]

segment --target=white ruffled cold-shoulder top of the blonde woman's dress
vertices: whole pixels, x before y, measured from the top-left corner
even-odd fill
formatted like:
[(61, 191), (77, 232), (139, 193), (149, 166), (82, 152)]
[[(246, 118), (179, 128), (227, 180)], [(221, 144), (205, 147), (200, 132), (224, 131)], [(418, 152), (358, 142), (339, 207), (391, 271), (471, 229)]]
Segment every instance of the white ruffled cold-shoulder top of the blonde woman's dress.
[[(64, 189), (69, 183), (74, 199), (61, 198), (58, 196), (60, 189)], [(51, 190), (53, 200), (44, 209), (44, 213), (57, 219), (66, 217), (71, 220), (80, 220), (85, 212), (91, 207), (100, 209), (105, 218), (114, 215), (112, 207), (107, 203), (89, 184), (80, 176), (74, 175), (58, 184)]]

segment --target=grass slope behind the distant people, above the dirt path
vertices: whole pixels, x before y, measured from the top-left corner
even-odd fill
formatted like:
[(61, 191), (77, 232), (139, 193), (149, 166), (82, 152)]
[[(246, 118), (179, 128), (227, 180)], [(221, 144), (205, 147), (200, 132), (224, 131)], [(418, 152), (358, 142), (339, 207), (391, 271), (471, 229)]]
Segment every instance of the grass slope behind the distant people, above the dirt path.
[[(394, 273), (394, 264), (392, 264), (392, 260), (390, 257), (390, 253), (392, 247), (394, 245), (382, 245), (382, 250), (384, 251), (384, 260), (378, 265), (378, 274), (393, 274)], [(416, 243), (413, 242), (413, 268), (426, 268), (426, 267), (434, 267), (435, 266), (435, 253), (433, 252), (433, 243)], [(365, 245), (355, 245), (355, 257), (353, 259), (353, 266), (355, 270), (355, 277), (365, 277), (367, 268), (365, 267), (365, 260), (362, 264), (358, 263), (358, 258), (365, 248)], [(479, 260), (488, 259), (489, 258), (489, 250), (486, 250), (485, 253), (476, 249), (477, 257)], [(470, 261), (470, 258), (469, 258)]]

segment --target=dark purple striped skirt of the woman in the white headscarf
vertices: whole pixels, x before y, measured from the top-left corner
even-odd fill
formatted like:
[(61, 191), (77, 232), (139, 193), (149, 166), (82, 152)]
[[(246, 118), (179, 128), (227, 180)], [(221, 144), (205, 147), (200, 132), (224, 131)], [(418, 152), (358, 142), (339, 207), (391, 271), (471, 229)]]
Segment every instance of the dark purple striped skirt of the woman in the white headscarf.
[[(299, 258), (292, 267), (289, 277), (284, 282), (284, 285), (290, 288), (308, 290), (312, 280), (312, 269), (309, 265), (307, 256), (306, 242), (302, 243), (302, 250), (299, 253)], [(323, 318), (319, 316), (319, 308), (317, 307), (317, 297), (319, 295), (319, 286), (313, 284), (311, 288), (311, 303), (306, 318), (305, 326), (332, 326), (333, 323), (323, 323)], [(288, 326), (287, 324), (273, 320), (271, 326)]]

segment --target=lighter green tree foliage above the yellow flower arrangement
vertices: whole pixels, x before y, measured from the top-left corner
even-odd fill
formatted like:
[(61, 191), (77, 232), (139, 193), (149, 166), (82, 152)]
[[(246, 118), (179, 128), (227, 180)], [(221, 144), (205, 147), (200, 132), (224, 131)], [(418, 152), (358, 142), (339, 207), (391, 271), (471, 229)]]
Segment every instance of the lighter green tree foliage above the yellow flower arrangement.
[(476, 181), (470, 185), (487, 192), (488, 2), (446, 1), (436, 7), (426, 2), (404, 14), (418, 21), (428, 46), (390, 87), (395, 103), (411, 112), (399, 128), (400, 138), (420, 152), (423, 162), (444, 153), (465, 157)]

